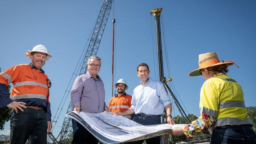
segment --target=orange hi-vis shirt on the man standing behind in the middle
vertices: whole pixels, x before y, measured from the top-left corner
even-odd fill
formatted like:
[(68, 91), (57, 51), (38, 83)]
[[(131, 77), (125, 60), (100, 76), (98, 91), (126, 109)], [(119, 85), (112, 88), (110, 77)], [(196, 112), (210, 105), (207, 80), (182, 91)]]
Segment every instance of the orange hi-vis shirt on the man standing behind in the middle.
[(109, 100), (108, 107), (110, 112), (112, 113), (123, 112), (132, 106), (131, 101), (132, 101), (132, 96), (124, 92), (122, 96), (118, 96), (117, 94), (116, 96), (111, 98)]

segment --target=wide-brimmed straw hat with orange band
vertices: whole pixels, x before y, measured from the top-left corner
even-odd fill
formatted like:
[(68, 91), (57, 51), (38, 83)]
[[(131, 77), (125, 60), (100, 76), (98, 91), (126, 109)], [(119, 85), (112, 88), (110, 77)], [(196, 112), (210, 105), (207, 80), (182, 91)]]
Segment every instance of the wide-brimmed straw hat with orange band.
[(189, 72), (189, 76), (200, 76), (200, 69), (203, 68), (208, 68), (208, 67), (212, 67), (212, 66), (217, 66), (217, 65), (233, 65), (234, 61), (219, 61), (219, 58), (216, 54), (216, 52), (209, 52), (209, 53), (205, 53), (205, 54), (200, 54), (199, 56), (199, 61), (198, 61), (198, 65), (199, 68), (197, 68), (196, 70), (193, 70), (192, 72)]

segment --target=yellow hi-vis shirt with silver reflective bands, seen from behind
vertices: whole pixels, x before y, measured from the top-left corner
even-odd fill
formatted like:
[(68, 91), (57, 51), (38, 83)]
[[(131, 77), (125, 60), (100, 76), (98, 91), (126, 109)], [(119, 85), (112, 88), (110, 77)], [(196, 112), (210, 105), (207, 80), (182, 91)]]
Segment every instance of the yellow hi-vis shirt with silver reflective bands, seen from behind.
[(212, 129), (225, 125), (252, 124), (241, 86), (225, 74), (220, 73), (204, 82), (199, 107), (200, 113), (217, 118)]

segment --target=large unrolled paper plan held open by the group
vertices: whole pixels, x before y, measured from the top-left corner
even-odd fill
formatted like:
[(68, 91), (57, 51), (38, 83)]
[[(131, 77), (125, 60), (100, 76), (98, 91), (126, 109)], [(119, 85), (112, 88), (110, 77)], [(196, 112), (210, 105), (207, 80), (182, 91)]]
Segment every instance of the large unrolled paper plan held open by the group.
[(143, 140), (167, 133), (173, 127), (184, 125), (158, 124), (141, 125), (115, 113), (77, 113), (72, 111), (66, 115), (84, 126), (98, 140), (105, 144), (119, 144), (134, 140)]

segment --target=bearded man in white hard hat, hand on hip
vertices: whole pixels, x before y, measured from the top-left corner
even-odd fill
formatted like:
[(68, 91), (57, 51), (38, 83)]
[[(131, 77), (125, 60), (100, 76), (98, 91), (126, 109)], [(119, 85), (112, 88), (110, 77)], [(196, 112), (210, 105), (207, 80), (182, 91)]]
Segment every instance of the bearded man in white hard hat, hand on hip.
[[(43, 71), (50, 57), (44, 45), (37, 45), (26, 56), (29, 64), (12, 66), (0, 73), (0, 107), (9, 107), (10, 143), (46, 144), (47, 133), (52, 129), (49, 89), (51, 82)], [(13, 84), (11, 94), (7, 85)]]

